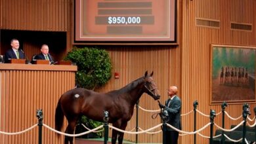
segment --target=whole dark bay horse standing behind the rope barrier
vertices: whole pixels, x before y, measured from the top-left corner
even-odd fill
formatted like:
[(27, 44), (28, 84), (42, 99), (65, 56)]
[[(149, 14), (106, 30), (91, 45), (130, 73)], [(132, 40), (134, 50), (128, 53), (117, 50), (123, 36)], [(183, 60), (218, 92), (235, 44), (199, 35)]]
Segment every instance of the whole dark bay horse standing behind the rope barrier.
[[(85, 115), (93, 120), (103, 121), (103, 111), (109, 113), (109, 123), (114, 127), (125, 130), (127, 122), (133, 116), (135, 103), (145, 92), (155, 100), (160, 99), (160, 93), (152, 78), (153, 72), (144, 77), (127, 84), (119, 90), (113, 90), (107, 93), (98, 93), (85, 88), (75, 88), (62, 94), (58, 100), (55, 113), (55, 129), (60, 131), (63, 125), (64, 115), (68, 120), (66, 133), (74, 134), (74, 128), (77, 120)], [(118, 137), (117, 137), (118, 136)], [(123, 143), (123, 133), (112, 130), (112, 144)], [(73, 143), (73, 137), (65, 136), (64, 143)]]

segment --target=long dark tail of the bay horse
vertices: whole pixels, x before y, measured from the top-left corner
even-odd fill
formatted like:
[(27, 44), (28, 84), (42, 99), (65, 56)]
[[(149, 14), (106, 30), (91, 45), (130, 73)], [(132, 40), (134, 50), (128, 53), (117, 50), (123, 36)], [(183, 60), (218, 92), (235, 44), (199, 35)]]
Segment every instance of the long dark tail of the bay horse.
[[(55, 110), (55, 129), (60, 131), (63, 125), (64, 113), (61, 109), (60, 99), (58, 99), (58, 105)], [(58, 134), (60, 136), (60, 134)]]

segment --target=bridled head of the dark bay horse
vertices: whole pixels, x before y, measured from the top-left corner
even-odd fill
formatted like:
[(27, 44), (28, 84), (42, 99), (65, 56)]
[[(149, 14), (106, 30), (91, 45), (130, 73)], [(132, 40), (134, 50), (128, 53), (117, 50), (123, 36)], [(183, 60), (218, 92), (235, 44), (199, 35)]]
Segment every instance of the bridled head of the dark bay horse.
[(144, 88), (146, 89), (146, 93), (155, 100), (160, 99), (160, 92), (158, 90), (158, 87), (156, 86), (156, 82), (154, 81), (153, 77), (153, 71), (150, 75), (148, 75), (148, 71), (146, 71), (144, 75)]

